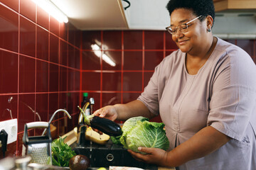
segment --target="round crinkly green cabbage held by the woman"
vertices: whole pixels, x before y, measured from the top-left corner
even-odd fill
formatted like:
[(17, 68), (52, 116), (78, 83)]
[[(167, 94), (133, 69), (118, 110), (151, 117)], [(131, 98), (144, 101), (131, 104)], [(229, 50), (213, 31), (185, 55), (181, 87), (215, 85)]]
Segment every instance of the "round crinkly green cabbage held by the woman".
[(139, 116), (124, 122), (122, 130), (123, 134), (120, 137), (122, 145), (134, 152), (139, 152), (138, 147), (155, 147), (164, 150), (169, 148), (164, 123), (149, 122), (147, 118)]

